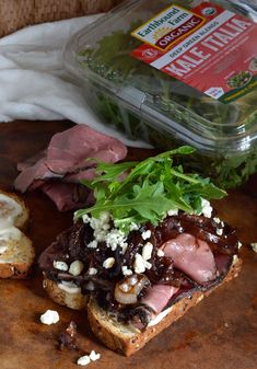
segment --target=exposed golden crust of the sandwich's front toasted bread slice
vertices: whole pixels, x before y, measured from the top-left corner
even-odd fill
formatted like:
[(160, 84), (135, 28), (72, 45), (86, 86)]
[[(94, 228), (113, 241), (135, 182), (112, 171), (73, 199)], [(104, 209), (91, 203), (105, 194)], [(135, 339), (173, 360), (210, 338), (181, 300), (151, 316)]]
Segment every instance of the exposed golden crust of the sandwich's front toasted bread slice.
[(226, 277), (208, 291), (195, 291), (190, 297), (174, 303), (171, 311), (160, 323), (149, 326), (144, 332), (118, 323), (105, 310), (101, 309), (93, 298), (87, 305), (87, 318), (94, 334), (110, 349), (125, 356), (130, 356), (142, 348), (151, 338), (182, 318), (190, 308), (195, 307), (215, 288), (236, 277), (241, 270), (242, 261), (234, 258)]

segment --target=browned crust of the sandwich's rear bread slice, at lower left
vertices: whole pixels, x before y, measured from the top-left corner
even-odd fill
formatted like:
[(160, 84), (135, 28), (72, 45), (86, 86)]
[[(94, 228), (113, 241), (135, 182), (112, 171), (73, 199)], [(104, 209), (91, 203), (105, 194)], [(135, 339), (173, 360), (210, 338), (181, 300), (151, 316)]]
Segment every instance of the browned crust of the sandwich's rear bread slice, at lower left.
[(81, 292), (68, 292), (61, 289), (58, 284), (44, 277), (43, 287), (48, 296), (57, 303), (68, 307), (73, 310), (86, 309), (89, 297)]

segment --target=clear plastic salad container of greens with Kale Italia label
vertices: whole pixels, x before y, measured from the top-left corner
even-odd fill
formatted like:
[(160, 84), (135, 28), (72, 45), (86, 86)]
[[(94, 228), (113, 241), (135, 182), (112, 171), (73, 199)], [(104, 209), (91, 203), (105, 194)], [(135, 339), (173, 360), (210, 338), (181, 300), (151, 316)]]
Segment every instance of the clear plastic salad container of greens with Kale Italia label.
[(257, 172), (257, 12), (250, 1), (125, 1), (81, 30), (65, 65), (94, 111), (224, 188)]

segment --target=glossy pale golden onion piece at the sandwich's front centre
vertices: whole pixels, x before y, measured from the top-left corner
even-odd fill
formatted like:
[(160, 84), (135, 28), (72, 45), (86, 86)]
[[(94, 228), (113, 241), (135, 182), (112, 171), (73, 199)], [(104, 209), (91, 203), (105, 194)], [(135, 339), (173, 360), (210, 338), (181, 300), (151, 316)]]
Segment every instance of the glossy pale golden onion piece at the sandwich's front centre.
[(138, 301), (142, 289), (150, 284), (143, 274), (133, 274), (118, 281), (115, 286), (115, 299), (122, 304), (131, 304)]

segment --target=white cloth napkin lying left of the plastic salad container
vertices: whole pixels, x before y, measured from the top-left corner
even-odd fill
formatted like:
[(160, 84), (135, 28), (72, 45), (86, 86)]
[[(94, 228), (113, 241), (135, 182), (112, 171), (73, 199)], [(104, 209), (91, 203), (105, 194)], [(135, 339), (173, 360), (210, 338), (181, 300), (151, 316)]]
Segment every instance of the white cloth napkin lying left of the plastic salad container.
[(106, 126), (63, 68), (67, 41), (98, 16), (103, 15), (30, 26), (0, 39), (0, 122), (69, 119), (116, 137), (125, 145), (150, 147)]

